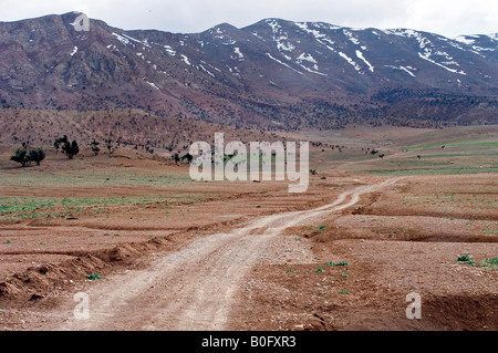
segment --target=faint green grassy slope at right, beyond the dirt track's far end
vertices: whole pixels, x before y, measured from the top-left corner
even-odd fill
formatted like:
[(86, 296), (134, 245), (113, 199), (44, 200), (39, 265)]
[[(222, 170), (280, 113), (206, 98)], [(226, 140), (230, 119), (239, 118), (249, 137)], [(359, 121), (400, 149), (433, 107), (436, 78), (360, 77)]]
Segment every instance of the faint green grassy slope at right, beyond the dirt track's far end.
[[(312, 157), (322, 168), (385, 176), (498, 173), (496, 126), (489, 131), (470, 126), (421, 133), (406, 141), (398, 136), (392, 144), (371, 147), (378, 153), (372, 155), (356, 146), (342, 153), (314, 153)], [(378, 157), (381, 154), (384, 158)]]

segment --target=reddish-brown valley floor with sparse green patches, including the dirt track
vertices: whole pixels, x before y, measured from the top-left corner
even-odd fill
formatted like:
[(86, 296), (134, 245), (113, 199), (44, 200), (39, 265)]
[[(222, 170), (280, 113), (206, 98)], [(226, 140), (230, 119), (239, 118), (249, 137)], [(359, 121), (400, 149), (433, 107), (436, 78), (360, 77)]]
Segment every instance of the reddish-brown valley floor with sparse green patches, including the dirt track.
[(0, 163), (0, 328), (497, 330), (497, 150), (444, 134), (315, 148), (305, 194), (132, 149)]

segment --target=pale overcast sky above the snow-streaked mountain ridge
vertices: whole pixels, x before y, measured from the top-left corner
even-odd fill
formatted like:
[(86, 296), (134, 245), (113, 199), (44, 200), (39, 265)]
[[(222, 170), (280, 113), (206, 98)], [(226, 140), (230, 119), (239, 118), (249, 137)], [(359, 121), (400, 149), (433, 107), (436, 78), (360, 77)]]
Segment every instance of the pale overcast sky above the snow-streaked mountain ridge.
[(183, 33), (222, 22), (241, 28), (266, 18), (408, 28), (449, 38), (498, 32), (498, 0), (0, 0), (0, 21), (73, 10), (125, 30)]

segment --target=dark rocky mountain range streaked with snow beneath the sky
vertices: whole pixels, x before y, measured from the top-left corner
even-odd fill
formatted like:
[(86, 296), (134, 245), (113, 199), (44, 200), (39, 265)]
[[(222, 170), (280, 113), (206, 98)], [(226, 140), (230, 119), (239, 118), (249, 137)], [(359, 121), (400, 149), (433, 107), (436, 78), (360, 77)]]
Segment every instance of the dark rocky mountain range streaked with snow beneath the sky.
[(0, 22), (0, 107), (139, 108), (259, 129), (498, 123), (498, 33), (449, 39), (264, 19), (125, 31), (79, 12)]

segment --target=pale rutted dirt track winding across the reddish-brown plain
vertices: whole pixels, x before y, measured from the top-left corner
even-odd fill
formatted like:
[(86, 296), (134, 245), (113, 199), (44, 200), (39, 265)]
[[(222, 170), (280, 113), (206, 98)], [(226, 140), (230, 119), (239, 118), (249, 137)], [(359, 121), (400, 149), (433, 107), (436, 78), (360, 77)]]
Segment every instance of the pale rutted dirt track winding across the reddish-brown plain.
[[(288, 227), (307, 225), (329, 212), (351, 207), (362, 194), (396, 183), (393, 178), (342, 193), (329, 205), (271, 215), (229, 233), (199, 238), (180, 251), (160, 257), (146, 270), (95, 282), (89, 295), (90, 318), (72, 315), (49, 330), (232, 330), (228, 326), (235, 293), (271, 240)], [(58, 315), (59, 316), (59, 315)], [(64, 315), (60, 315), (64, 316)]]

